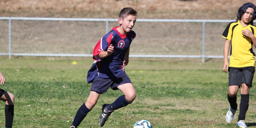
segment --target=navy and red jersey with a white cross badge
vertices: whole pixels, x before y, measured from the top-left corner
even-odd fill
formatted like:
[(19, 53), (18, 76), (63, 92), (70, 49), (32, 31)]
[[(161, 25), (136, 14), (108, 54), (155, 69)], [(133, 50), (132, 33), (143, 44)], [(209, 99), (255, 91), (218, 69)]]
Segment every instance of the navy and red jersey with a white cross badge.
[[(125, 73), (123, 66), (124, 57), (136, 34), (130, 31), (126, 35), (123, 35), (118, 32), (118, 27), (113, 27), (94, 47), (93, 59), (95, 62), (88, 71), (88, 83), (93, 82), (93, 79), (96, 78), (112, 78)], [(101, 51), (107, 51), (110, 44), (114, 46), (114, 52), (107, 57), (99, 58), (99, 53)]]

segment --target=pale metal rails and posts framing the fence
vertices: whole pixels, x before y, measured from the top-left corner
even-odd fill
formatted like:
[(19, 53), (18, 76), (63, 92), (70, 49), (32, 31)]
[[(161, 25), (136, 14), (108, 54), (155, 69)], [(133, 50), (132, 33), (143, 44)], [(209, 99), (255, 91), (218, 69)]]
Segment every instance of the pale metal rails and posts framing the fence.
[[(12, 20), (38, 20), (38, 21), (105, 21), (106, 34), (108, 33), (108, 22), (118, 21), (118, 19), (108, 18), (29, 18), (29, 17), (0, 17), (0, 20), (9, 20), (9, 53), (0, 53), (8, 56), (56, 56), (56, 57), (92, 57), (92, 54), (35, 54), (35, 53), (11, 53), (11, 21)], [(223, 56), (205, 55), (205, 22), (233, 22), (235, 20), (199, 20), (199, 19), (137, 19), (139, 22), (201, 22), (202, 30), (202, 55), (129, 55), (129, 57), (161, 57), (161, 58), (224, 58)], [(254, 21), (256, 22), (256, 20)], [(229, 57), (228, 57), (229, 58)]]

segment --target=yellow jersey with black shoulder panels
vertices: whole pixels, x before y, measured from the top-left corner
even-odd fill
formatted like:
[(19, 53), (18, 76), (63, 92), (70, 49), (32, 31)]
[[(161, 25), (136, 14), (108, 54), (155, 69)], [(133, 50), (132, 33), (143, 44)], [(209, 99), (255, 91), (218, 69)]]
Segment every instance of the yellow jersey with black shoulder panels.
[(252, 51), (252, 40), (242, 35), (242, 30), (249, 29), (256, 36), (256, 26), (243, 27), (240, 21), (231, 22), (222, 34), (222, 37), (231, 41), (230, 67), (255, 67), (255, 53)]

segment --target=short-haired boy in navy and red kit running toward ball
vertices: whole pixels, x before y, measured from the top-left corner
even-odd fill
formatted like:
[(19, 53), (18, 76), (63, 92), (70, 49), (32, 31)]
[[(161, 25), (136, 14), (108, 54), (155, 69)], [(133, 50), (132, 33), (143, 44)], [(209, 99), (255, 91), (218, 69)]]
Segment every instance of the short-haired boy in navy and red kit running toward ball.
[(102, 105), (99, 117), (100, 127), (104, 126), (110, 114), (121, 107), (131, 104), (136, 97), (132, 82), (124, 72), (124, 66), (129, 62), (129, 49), (135, 32), (131, 31), (135, 25), (137, 12), (132, 8), (121, 10), (118, 18), (120, 26), (114, 27), (102, 37), (93, 50), (95, 62), (88, 71), (87, 82), (92, 83), (87, 101), (77, 111), (70, 128), (76, 128), (88, 112), (96, 105), (100, 94), (113, 90), (121, 90), (124, 95), (118, 97), (111, 104)]

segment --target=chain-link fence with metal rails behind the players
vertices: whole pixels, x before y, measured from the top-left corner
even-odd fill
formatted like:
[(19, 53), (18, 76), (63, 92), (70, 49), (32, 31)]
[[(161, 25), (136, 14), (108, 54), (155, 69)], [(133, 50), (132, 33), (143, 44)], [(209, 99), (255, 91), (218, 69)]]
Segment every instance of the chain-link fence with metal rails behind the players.
[[(137, 19), (130, 57), (223, 58), (221, 35), (232, 21)], [(117, 19), (0, 17), (0, 55), (92, 56), (115, 26)]]

